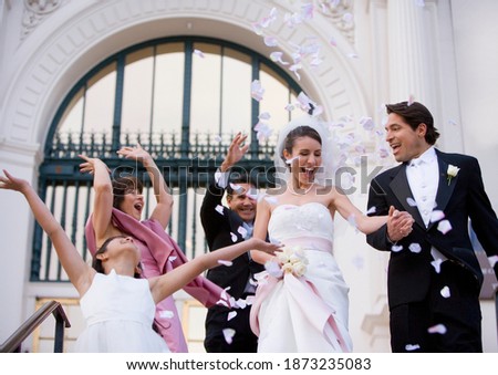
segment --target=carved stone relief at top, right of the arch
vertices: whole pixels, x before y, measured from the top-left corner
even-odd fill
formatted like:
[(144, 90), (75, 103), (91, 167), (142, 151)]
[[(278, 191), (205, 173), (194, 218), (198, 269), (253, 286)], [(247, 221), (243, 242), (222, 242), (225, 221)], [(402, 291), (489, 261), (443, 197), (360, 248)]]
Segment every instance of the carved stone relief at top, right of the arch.
[(353, 0), (315, 0), (320, 12), (332, 20), (334, 27), (354, 44)]

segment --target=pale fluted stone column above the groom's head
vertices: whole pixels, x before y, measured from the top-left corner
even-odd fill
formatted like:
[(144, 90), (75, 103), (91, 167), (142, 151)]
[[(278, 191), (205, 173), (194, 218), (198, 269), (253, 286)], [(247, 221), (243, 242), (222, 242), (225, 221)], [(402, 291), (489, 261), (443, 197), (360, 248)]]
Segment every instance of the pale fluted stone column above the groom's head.
[(429, 52), (425, 38), (424, 4), (387, 0), (390, 100), (430, 102)]

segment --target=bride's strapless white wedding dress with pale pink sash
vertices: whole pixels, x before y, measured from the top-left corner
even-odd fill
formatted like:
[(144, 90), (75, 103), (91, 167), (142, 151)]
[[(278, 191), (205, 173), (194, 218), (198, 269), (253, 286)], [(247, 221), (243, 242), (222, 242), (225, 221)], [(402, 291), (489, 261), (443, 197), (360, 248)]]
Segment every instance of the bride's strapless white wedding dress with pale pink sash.
[(319, 202), (273, 209), (271, 240), (299, 247), (308, 259), (305, 273), (267, 271), (251, 309), (251, 327), (260, 353), (351, 352), (347, 332), (349, 288), (333, 257), (333, 220)]

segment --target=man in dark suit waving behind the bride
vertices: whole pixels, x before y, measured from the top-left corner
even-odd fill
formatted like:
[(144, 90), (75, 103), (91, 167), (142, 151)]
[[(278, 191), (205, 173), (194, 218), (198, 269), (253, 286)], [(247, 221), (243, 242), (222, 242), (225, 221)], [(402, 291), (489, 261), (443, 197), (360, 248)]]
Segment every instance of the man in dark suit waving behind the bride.
[[(210, 251), (243, 241), (252, 236), (256, 217), (256, 186), (243, 176), (229, 180), (229, 169), (246, 154), (242, 146), (247, 136), (240, 133), (234, 138), (220, 168), (209, 183), (200, 208), (200, 220)], [(221, 205), (227, 190), (228, 207)], [(206, 316), (204, 346), (208, 353), (252, 353), (258, 337), (249, 325), (251, 298), (256, 292), (253, 274), (264, 268), (250, 259), (247, 252), (232, 261), (230, 267), (210, 269), (207, 279), (227, 289), (237, 302), (232, 309), (215, 305)], [(227, 340), (226, 335), (230, 338)]]

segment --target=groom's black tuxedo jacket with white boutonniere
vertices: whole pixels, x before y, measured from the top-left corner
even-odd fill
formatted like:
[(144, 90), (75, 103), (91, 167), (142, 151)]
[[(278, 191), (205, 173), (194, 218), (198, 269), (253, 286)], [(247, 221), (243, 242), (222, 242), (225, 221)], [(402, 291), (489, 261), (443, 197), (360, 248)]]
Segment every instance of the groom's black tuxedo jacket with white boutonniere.
[[(429, 272), (434, 271), (430, 264), (432, 247), (460, 265), (463, 277), (470, 275), (470, 283), (475, 284), (476, 293), (479, 293), (484, 278), (469, 238), (468, 219), (487, 256), (498, 254), (498, 220), (485, 192), (477, 159), (437, 149), (436, 154), (439, 185), (435, 209), (444, 211), (443, 220), (452, 225), (452, 230), (446, 235), (437, 229), (439, 221), (430, 222), (426, 228), (418, 208), (409, 205), (408, 198), (413, 199), (413, 195), (406, 178), (406, 163), (382, 173), (371, 183), (367, 207), (371, 210), (375, 207), (375, 212), (371, 215), (387, 215), (390, 206), (394, 206), (408, 211), (415, 219), (412, 233), (396, 243), (403, 246), (403, 250), (391, 252), (387, 273), (390, 308), (422, 301), (427, 295)], [(448, 183), (447, 170), (450, 165), (460, 169)], [(372, 247), (390, 251), (393, 243), (386, 235), (387, 226), (384, 225), (366, 239)], [(411, 251), (408, 248), (412, 243), (418, 243), (422, 251)], [(495, 264), (495, 273), (498, 274), (498, 263)]]

